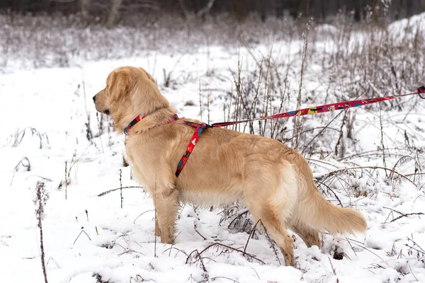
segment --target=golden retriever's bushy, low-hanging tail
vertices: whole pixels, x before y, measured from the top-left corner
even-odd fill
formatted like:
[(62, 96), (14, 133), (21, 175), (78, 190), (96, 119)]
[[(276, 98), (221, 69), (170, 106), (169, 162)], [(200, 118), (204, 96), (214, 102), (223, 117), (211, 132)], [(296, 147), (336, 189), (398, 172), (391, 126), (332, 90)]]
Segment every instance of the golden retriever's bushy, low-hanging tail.
[(298, 168), (302, 172), (297, 172), (300, 188), (295, 212), (297, 218), (314, 229), (326, 229), (332, 234), (363, 233), (367, 225), (361, 213), (353, 209), (336, 207), (327, 202), (314, 185), (307, 162), (303, 162), (302, 165), (303, 168)]

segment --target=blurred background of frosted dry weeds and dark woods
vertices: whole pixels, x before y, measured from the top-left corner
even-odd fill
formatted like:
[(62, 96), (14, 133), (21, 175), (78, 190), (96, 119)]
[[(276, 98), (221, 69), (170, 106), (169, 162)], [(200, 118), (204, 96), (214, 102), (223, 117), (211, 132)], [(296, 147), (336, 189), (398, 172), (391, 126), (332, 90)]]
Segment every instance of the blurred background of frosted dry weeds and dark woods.
[(365, 32), (371, 45), (384, 36), (376, 42), (382, 48), (414, 36), (412, 46), (394, 46), (412, 57), (411, 48), (422, 44), (421, 25), (390, 39), (390, 23), (424, 11), (425, 0), (1, 0), (0, 71), (69, 67), (144, 50), (188, 54), (205, 46), (303, 42), (310, 28), (312, 53), (324, 37), (348, 48), (358, 42), (351, 35)]

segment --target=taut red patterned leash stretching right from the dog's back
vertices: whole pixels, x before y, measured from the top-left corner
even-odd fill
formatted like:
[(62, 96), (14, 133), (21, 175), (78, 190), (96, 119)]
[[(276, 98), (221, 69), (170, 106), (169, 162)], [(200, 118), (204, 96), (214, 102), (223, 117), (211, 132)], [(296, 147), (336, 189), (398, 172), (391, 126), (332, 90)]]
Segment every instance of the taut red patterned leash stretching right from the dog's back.
[(365, 99), (361, 99), (361, 100), (351, 100), (351, 101), (345, 101), (345, 102), (340, 102), (340, 103), (330, 103), (330, 104), (326, 104), (326, 105), (304, 108), (304, 109), (300, 109), (300, 110), (279, 113), (279, 114), (275, 114), (275, 115), (271, 115), (271, 116), (265, 116), (265, 117), (256, 118), (256, 119), (240, 120), (240, 121), (234, 121), (234, 122), (219, 122), (219, 123), (214, 123), (211, 126), (212, 127), (226, 127), (226, 126), (229, 126), (229, 125), (237, 125), (237, 124), (240, 124), (240, 123), (251, 122), (251, 121), (268, 120), (268, 119), (276, 119), (276, 118), (286, 118), (286, 117), (303, 116), (303, 115), (312, 115), (312, 114), (317, 114), (317, 113), (330, 112), (330, 111), (334, 111), (334, 110), (354, 108), (354, 107), (363, 106), (363, 105), (367, 105), (367, 104), (382, 102), (382, 101), (385, 101), (385, 100), (392, 100), (392, 99), (400, 98), (400, 97), (403, 97), (403, 96), (412, 96), (414, 94), (418, 94), (420, 98), (425, 99), (425, 86), (420, 86), (417, 89), (417, 91), (415, 91), (414, 93), (399, 94), (398, 96), (365, 98)]

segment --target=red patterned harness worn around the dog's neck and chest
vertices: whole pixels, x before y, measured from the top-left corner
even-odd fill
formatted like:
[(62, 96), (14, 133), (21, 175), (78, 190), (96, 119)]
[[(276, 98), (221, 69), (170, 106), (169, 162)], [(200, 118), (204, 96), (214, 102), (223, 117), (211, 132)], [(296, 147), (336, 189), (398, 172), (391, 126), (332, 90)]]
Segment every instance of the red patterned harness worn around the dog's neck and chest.
[[(140, 122), (140, 120), (143, 120), (143, 118), (145, 118), (146, 115), (143, 116), (137, 116), (135, 117), (134, 120), (132, 120), (130, 122), (130, 124), (124, 129), (124, 134), (128, 135), (128, 131), (130, 131), (130, 129), (132, 127), (134, 127), (137, 122)], [(173, 117), (170, 118), (170, 120), (166, 121), (164, 124), (169, 124), (172, 123), (174, 121), (180, 120), (179, 116), (177, 116), (177, 114), (173, 115)], [(193, 151), (193, 149), (195, 149), (196, 143), (198, 142), (198, 139), (200, 137), (200, 134), (202, 133), (203, 129), (207, 129), (212, 127), (211, 125), (205, 124), (203, 123), (195, 123), (195, 122), (189, 122), (189, 121), (183, 121), (183, 123), (185, 125), (191, 126), (191, 127), (196, 127), (195, 129), (195, 133), (193, 134), (191, 141), (189, 141), (189, 144), (186, 148), (186, 152), (183, 154), (183, 156), (181, 156), (181, 159), (179, 161), (179, 165), (177, 166), (177, 170), (176, 170), (176, 177), (179, 177), (181, 171), (183, 170), (184, 166), (186, 165), (186, 162), (188, 162), (189, 156), (191, 156), (191, 153)], [(159, 127), (161, 125), (164, 124), (159, 124), (156, 127)]]

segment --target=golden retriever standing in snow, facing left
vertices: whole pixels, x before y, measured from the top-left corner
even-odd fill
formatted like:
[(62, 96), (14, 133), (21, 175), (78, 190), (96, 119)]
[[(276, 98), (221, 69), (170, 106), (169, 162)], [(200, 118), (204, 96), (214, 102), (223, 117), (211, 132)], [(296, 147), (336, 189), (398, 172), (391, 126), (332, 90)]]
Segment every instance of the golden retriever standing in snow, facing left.
[(110, 115), (123, 133), (139, 115), (145, 116), (126, 133), (125, 150), (137, 180), (152, 195), (156, 208), (155, 235), (174, 243), (179, 205), (201, 207), (242, 202), (261, 219), (285, 258), (294, 265), (293, 237), (307, 246), (320, 244), (318, 231), (364, 232), (363, 216), (324, 200), (314, 185), (310, 167), (297, 151), (274, 139), (230, 129), (204, 129), (186, 166), (176, 168), (196, 128), (181, 118), (144, 69), (120, 67), (108, 75), (106, 88), (94, 96), (96, 110)]

